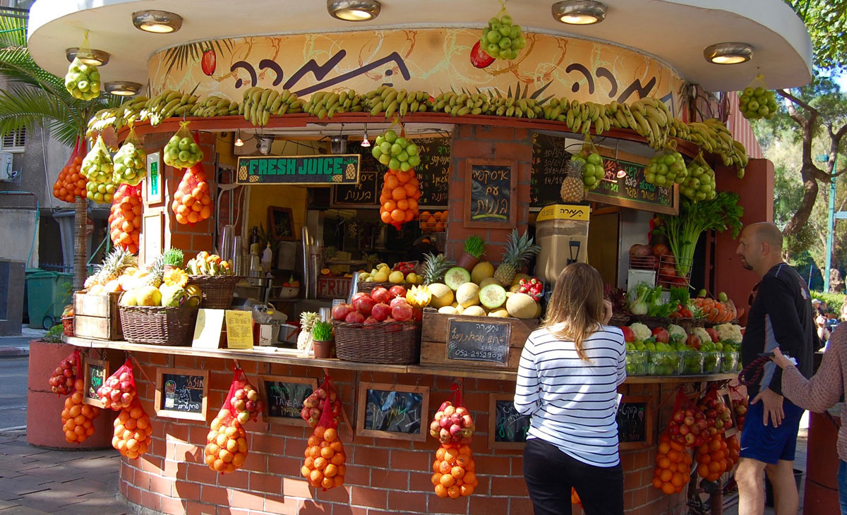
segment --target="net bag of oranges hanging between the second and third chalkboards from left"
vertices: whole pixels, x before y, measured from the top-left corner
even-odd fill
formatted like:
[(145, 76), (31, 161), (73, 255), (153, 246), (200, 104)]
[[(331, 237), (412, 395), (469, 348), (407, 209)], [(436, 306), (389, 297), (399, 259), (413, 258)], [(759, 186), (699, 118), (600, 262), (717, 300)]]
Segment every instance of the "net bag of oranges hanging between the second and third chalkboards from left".
[[(247, 434), (241, 422), (238, 421), (240, 412), (233, 405), (233, 401), (237, 401), (235, 392), (244, 390), (242, 388), (244, 383), (249, 385), (244, 371), (235, 367), (230, 392), (226, 395), (224, 406), (220, 408), (218, 416), (213, 419), (206, 436), (206, 448), (203, 453), (206, 464), (215, 472), (235, 472), (247, 459)], [(248, 419), (249, 416), (250, 413), (247, 412)]]

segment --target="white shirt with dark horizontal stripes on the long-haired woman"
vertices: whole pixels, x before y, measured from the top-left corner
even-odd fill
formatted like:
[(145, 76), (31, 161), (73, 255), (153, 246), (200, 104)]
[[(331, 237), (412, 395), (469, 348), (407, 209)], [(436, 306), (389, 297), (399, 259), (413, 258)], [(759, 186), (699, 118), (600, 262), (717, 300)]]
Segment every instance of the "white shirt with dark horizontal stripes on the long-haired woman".
[(626, 379), (623, 332), (604, 325), (583, 341), (590, 362), (573, 341), (537, 329), (523, 346), (515, 408), (531, 414), (527, 438), (540, 438), (596, 467), (617, 456), (617, 386)]

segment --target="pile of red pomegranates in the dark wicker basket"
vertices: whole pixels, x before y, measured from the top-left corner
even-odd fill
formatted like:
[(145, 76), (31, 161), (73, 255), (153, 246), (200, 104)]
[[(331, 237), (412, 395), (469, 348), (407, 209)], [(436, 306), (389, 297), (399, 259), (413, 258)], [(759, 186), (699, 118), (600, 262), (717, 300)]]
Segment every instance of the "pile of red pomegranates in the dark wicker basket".
[(332, 308), (332, 318), (347, 324), (373, 325), (388, 322), (404, 322), (414, 318), (420, 321), (424, 312), (406, 302), (406, 288), (382, 286), (374, 288), (370, 295), (360, 291), (353, 296), (352, 304), (338, 304)]

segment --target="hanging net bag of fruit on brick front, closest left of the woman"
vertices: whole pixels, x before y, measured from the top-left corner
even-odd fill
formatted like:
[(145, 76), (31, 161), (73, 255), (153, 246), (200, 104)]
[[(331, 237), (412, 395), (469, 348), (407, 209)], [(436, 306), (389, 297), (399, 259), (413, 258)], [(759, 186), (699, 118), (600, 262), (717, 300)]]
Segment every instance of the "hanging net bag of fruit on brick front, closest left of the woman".
[[(469, 445), (474, 429), (473, 417), (463, 406), (458, 385), (454, 384), (452, 389), (450, 398), (441, 403), (429, 424), (429, 435), (441, 442), (432, 463), (435, 495), (458, 499), (473, 494), (478, 481)], [(456, 401), (455, 405), (451, 399)]]

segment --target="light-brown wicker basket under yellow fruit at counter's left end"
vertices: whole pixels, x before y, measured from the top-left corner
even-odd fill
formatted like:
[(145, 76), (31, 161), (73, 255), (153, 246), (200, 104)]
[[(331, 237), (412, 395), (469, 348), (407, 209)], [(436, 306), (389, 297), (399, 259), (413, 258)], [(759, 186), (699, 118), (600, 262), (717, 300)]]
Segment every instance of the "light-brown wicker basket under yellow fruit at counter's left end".
[(130, 343), (191, 345), (197, 307), (119, 306), (120, 326)]

